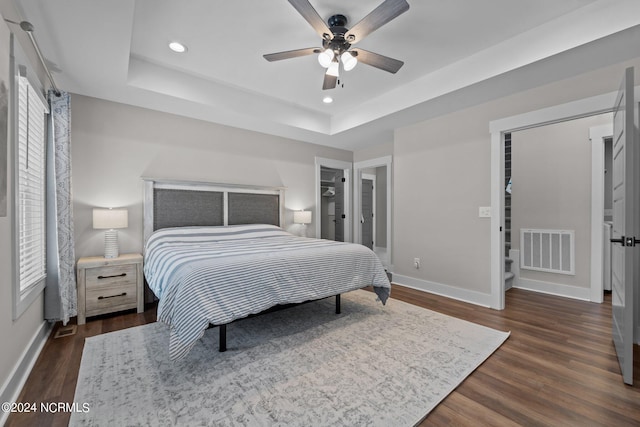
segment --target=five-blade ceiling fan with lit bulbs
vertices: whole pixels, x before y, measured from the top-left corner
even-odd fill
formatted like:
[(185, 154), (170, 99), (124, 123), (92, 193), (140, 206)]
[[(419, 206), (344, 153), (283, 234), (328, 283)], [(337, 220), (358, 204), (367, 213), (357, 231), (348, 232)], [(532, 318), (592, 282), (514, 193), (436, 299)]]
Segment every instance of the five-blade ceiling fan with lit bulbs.
[(288, 1), (322, 37), (322, 47), (269, 53), (263, 55), (267, 61), (280, 61), (318, 54), (318, 62), (327, 69), (322, 85), (323, 90), (336, 87), (340, 62), (342, 62), (342, 68), (345, 71), (353, 69), (358, 62), (362, 62), (394, 74), (404, 65), (404, 62), (397, 59), (360, 48), (352, 48), (352, 45), (362, 41), (367, 35), (409, 10), (409, 4), (406, 0), (383, 1), (351, 29), (346, 28), (347, 18), (344, 15), (331, 16), (327, 21), (329, 24), (327, 26), (308, 0)]

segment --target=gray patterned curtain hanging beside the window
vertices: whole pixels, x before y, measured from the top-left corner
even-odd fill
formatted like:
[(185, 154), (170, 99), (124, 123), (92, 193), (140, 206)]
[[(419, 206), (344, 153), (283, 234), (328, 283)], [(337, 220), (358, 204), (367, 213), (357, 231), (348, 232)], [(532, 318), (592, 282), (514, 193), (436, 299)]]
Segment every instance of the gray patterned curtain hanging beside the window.
[(47, 285), (44, 317), (66, 325), (77, 315), (71, 199), (71, 98), (49, 91), (47, 141)]

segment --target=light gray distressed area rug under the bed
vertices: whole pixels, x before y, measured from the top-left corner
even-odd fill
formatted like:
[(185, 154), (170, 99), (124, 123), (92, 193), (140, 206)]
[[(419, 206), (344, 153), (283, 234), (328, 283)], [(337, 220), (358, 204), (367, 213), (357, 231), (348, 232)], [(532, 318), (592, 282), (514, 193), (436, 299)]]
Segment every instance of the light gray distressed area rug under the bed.
[(169, 360), (161, 323), (85, 343), (70, 425), (411, 426), (509, 336), (366, 291), (207, 330)]

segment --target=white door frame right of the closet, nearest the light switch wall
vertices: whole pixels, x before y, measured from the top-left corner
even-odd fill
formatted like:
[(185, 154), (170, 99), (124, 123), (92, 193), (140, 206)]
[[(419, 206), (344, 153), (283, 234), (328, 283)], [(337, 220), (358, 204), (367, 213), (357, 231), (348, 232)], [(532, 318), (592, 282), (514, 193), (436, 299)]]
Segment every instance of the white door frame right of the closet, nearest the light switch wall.
[[(354, 177), (353, 180), (353, 221), (354, 224), (360, 224), (359, 215), (360, 215), (360, 195), (362, 194), (362, 174), (364, 169), (369, 168), (377, 168), (386, 166), (387, 168), (387, 262), (389, 265), (385, 265), (385, 267), (393, 270), (393, 256), (392, 256), (392, 240), (391, 240), (391, 196), (393, 192), (393, 185), (391, 181), (392, 174), (392, 166), (393, 166), (393, 156), (384, 156), (378, 157), (370, 160), (363, 160), (360, 162), (355, 162), (353, 165)], [(362, 236), (360, 233), (360, 227), (354, 227), (354, 238), (353, 241), (355, 243), (362, 244)]]

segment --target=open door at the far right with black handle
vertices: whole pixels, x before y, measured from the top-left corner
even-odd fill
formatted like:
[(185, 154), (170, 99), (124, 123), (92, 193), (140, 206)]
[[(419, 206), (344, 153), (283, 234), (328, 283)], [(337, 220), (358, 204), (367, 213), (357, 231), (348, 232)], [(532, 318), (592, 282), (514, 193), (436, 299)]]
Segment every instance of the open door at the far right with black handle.
[(633, 68), (625, 70), (613, 118), (613, 227), (611, 248), (612, 330), (625, 383), (633, 383), (634, 258), (640, 235), (635, 200), (637, 116), (634, 111)]

